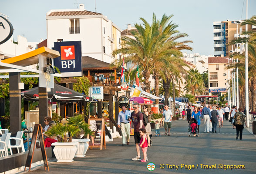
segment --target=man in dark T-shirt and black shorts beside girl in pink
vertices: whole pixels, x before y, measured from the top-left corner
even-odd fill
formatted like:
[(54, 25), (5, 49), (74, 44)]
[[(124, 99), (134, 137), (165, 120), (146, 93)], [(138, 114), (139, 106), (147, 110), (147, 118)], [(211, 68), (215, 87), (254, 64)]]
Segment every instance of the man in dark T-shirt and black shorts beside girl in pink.
[[(134, 126), (134, 141), (135, 141), (135, 145), (136, 145), (136, 151), (137, 151), (137, 156), (132, 158), (133, 161), (137, 161), (137, 160), (141, 160), (141, 155), (140, 155), (140, 147), (139, 147), (139, 143), (141, 141), (140, 138), (140, 133), (139, 130), (141, 128), (145, 128), (144, 124), (143, 124), (143, 114), (142, 112), (139, 112), (139, 104), (135, 103), (133, 105), (133, 109), (134, 111), (131, 113), (131, 129)], [(146, 159), (146, 161), (148, 161), (148, 158)]]

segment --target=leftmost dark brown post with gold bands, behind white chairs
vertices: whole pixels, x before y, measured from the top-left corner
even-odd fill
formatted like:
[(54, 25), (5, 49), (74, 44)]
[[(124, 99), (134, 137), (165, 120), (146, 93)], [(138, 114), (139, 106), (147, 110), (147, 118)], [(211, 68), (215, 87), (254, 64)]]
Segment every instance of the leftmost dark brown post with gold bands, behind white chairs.
[(19, 90), (20, 73), (9, 73), (10, 81), (10, 132), (21, 130), (21, 97)]

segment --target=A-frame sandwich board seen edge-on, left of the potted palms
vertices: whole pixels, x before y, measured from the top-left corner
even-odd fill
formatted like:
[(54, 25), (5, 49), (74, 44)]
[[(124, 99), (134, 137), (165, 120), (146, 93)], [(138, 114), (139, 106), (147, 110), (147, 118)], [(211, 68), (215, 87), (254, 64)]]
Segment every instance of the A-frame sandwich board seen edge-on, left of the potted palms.
[(41, 124), (35, 124), (33, 135), (32, 135), (32, 139), (31, 139), (30, 149), (29, 149), (28, 154), (27, 154), (27, 161), (26, 161), (26, 165), (25, 165), (24, 171), (26, 171), (26, 167), (29, 167), (28, 171), (30, 171), (32, 160), (33, 160), (33, 156), (34, 156), (35, 146), (36, 146), (36, 142), (37, 142), (37, 135), (39, 137), (41, 151), (42, 151), (42, 156), (43, 156), (43, 160), (44, 160), (44, 170), (46, 170), (46, 167), (47, 167), (47, 169), (49, 171), (46, 151), (45, 151), (45, 147), (44, 147), (44, 137), (43, 137), (43, 132), (42, 132)]

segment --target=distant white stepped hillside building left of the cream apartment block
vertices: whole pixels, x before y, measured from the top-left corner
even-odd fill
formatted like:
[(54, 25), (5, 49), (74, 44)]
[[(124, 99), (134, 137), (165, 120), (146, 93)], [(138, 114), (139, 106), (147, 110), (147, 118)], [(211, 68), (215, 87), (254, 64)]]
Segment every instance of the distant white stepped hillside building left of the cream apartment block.
[(208, 70), (208, 58), (213, 57), (212, 55), (205, 56), (200, 55), (199, 53), (182, 53), (183, 59), (195, 65), (195, 68), (198, 69), (199, 73), (202, 74)]

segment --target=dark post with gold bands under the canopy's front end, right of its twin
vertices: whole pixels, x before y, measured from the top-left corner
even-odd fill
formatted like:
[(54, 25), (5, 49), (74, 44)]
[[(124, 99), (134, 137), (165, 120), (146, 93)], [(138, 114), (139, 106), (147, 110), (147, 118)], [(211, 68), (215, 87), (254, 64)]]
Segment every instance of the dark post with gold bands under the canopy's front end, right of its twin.
[(39, 124), (45, 126), (44, 117), (48, 117), (48, 93), (46, 87), (38, 87), (39, 94)]

